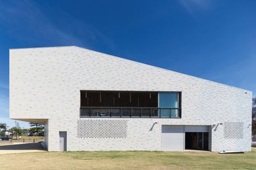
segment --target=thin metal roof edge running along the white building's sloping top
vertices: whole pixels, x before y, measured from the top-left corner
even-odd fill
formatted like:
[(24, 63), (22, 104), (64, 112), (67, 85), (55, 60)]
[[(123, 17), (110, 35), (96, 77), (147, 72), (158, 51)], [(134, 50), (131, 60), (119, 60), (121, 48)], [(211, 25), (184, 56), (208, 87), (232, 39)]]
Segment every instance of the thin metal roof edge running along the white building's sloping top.
[(179, 73), (179, 72), (177, 72), (177, 71), (171, 71), (171, 70), (169, 70), (169, 69), (164, 69), (164, 68), (157, 67), (157, 66), (154, 66), (154, 65), (149, 65), (149, 64), (146, 64), (146, 63), (141, 63), (141, 62), (139, 62), (139, 61), (133, 61), (133, 60), (131, 60), (131, 59), (121, 58), (121, 57), (119, 57), (119, 56), (113, 56), (113, 55), (111, 55), (111, 54), (106, 54), (106, 53), (103, 53), (103, 52), (97, 52), (97, 51), (95, 51), (95, 50), (91, 50), (91, 49), (84, 48), (84, 47), (81, 47), (81, 46), (74, 46), (74, 45), (71, 45), (71, 46), (43, 46), (43, 47), (32, 47), (32, 48), (10, 48), (9, 50), (26, 50), (26, 49), (34, 49), (34, 48), (71, 48), (71, 47), (73, 47), (73, 48), (81, 48), (81, 49), (83, 49), (83, 50), (89, 50), (89, 51), (96, 52), (96, 53), (99, 53), (99, 54), (108, 55), (108, 56), (110, 56), (110, 57), (112, 57), (112, 58), (125, 59), (125, 60), (127, 60), (127, 61), (132, 61), (132, 62), (139, 63), (139, 64), (142, 64), (142, 65), (147, 65), (147, 66), (150, 66), (150, 67), (154, 67), (154, 68), (156, 68), (156, 69), (161, 69), (161, 70), (163, 70), (163, 71), (169, 71), (169, 72), (177, 73), (177, 74), (183, 75), (183, 76), (190, 76), (190, 77), (192, 77), (192, 78), (198, 78), (199, 80), (204, 80), (204, 81), (207, 81), (207, 82), (213, 82), (213, 83), (216, 83), (216, 84), (220, 84), (220, 85), (223, 85), (223, 86), (227, 86), (227, 87), (229, 87), (229, 88), (235, 88), (235, 89), (237, 89), (237, 90), (244, 90), (244, 91), (246, 91), (247, 93), (249, 92), (249, 93), (252, 94), (252, 91), (246, 90), (246, 89), (243, 89), (243, 88), (238, 88), (238, 87), (236, 87), (236, 86), (230, 86), (230, 85), (228, 85), (228, 84), (223, 84), (223, 83), (221, 83), (221, 82), (215, 82), (215, 81), (213, 81), (213, 80), (207, 80), (207, 79), (205, 79), (205, 78), (200, 78), (200, 77), (198, 77), (198, 76), (186, 75), (186, 74), (184, 74), (184, 73)]

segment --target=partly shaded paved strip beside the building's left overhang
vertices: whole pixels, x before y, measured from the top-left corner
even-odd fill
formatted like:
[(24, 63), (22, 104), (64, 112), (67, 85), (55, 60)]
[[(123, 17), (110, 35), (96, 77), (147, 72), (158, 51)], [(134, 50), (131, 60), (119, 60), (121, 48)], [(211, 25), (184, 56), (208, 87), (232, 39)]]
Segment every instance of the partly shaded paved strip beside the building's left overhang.
[(27, 152), (46, 152), (40, 143), (14, 143), (0, 145), (0, 154), (18, 154)]

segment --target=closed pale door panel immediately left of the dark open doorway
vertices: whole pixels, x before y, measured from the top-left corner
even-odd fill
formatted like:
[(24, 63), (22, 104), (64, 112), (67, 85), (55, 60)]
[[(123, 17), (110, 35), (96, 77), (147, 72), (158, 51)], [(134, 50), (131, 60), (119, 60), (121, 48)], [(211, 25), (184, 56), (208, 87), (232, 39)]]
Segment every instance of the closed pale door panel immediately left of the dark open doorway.
[(184, 150), (184, 126), (161, 126), (161, 150)]

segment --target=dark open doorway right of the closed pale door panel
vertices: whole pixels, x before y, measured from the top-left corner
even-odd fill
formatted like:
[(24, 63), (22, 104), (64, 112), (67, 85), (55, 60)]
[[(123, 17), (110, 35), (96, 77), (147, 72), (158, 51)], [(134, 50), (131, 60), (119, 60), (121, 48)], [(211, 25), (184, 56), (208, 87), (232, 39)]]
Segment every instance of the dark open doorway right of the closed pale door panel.
[(208, 132), (186, 132), (185, 149), (209, 150)]

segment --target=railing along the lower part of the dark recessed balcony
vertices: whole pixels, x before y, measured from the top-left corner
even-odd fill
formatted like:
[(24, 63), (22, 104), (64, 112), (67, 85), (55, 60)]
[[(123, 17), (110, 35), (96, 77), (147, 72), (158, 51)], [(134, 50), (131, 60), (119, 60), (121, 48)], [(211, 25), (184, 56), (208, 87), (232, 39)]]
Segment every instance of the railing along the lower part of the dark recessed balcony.
[(80, 118), (181, 118), (181, 108), (80, 107)]

